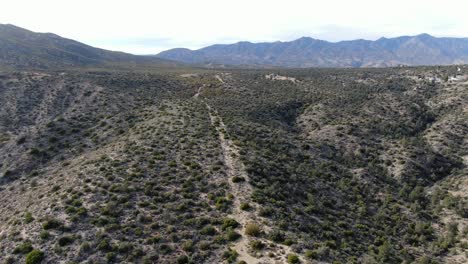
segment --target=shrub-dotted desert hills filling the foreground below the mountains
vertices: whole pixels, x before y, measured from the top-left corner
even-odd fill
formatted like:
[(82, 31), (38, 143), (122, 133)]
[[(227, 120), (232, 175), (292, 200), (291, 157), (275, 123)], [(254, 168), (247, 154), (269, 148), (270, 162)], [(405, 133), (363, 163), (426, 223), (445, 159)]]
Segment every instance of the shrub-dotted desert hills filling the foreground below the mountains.
[(5, 263), (466, 263), (466, 68), (3, 72)]

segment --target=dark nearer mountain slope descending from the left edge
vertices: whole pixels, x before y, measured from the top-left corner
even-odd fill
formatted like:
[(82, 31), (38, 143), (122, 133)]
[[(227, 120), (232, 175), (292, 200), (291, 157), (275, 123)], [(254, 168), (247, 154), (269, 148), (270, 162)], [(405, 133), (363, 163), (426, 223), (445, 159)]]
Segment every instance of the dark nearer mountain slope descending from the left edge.
[(11, 24), (0, 24), (0, 66), (21, 69), (50, 69), (80, 66), (174, 65), (150, 56), (109, 51), (62, 38), (36, 33)]

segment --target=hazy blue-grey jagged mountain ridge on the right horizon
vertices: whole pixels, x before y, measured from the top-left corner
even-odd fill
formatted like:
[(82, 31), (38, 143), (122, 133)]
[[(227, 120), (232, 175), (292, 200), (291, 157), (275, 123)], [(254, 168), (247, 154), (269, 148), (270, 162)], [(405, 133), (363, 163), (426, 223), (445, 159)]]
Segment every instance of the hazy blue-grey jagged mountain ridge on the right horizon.
[(196, 64), (277, 67), (389, 67), (468, 63), (468, 38), (428, 34), (380, 38), (376, 41), (328, 42), (302, 37), (290, 42), (238, 42), (199, 50), (163, 51), (159, 58)]

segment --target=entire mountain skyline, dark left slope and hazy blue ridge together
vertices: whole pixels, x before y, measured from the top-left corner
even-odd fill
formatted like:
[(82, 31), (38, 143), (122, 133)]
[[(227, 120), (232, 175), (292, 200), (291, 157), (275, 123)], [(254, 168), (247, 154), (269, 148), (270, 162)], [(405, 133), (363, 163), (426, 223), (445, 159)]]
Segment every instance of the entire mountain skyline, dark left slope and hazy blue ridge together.
[(376, 41), (328, 42), (302, 37), (290, 42), (238, 42), (199, 50), (176, 48), (157, 55), (133, 55), (95, 48), (52, 33), (0, 24), (0, 68), (203, 67), (308, 68), (394, 67), (468, 63), (468, 38), (428, 34)]

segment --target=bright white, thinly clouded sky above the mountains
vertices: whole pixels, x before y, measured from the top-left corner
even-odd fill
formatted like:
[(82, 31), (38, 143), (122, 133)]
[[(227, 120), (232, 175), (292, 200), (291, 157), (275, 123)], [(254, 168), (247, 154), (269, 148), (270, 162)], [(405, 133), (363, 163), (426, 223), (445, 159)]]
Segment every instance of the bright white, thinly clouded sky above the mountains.
[(238, 41), (468, 37), (466, 0), (0, 0), (0, 23), (134, 54)]

